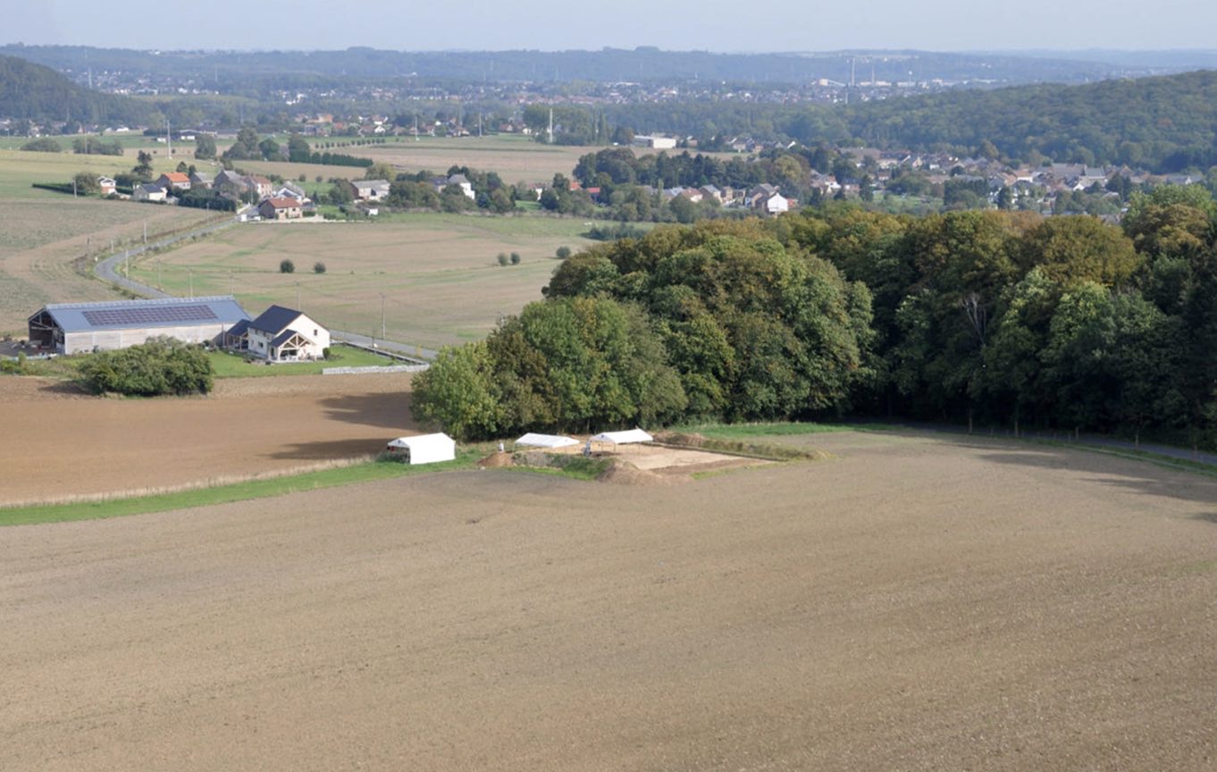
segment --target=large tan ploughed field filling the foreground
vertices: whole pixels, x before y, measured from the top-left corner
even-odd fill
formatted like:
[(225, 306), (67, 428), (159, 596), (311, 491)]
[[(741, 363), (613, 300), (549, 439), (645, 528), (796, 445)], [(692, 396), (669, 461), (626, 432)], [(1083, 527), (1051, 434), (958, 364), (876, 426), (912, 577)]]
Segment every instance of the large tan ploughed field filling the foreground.
[(1211, 770), (1217, 482), (818, 435), (6, 528), (15, 770)]

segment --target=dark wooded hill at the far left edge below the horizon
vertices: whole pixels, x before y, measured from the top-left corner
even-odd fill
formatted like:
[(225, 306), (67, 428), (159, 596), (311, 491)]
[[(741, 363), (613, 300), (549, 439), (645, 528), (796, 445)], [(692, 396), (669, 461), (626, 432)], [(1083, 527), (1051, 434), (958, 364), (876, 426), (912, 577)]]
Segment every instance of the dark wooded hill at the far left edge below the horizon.
[(75, 85), (50, 67), (0, 56), (0, 117), (29, 121), (144, 123), (153, 110), (125, 96)]

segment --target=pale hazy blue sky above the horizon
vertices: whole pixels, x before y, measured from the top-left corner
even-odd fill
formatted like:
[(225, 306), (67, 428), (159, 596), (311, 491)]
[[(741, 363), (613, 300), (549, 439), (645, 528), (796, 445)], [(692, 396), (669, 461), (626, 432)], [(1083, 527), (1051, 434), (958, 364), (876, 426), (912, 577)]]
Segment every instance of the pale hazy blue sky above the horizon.
[(1217, 46), (1213, 0), (34, 0), (0, 43), (131, 49), (1180, 49)]

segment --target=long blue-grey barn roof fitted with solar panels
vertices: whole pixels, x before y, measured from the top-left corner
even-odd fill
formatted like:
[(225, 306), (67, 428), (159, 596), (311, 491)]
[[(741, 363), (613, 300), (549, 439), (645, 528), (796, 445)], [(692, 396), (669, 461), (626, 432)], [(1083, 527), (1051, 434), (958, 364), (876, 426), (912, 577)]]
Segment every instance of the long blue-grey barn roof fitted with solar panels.
[(65, 332), (217, 323), (230, 325), (249, 318), (231, 295), (101, 303), (50, 303), (43, 311), (50, 314)]

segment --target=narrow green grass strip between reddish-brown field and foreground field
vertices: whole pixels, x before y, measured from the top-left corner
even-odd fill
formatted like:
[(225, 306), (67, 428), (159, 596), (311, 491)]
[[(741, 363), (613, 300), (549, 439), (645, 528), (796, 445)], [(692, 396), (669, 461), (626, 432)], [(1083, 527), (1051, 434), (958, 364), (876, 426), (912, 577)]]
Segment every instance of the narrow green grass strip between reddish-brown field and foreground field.
[(67, 504), (39, 504), (34, 507), (16, 507), (0, 509), (0, 526), (35, 525), (43, 522), (67, 522), (72, 520), (103, 520), (124, 515), (142, 515), (192, 507), (212, 507), (256, 498), (269, 498), (319, 491), (360, 482), (404, 477), (414, 474), (473, 469), (484, 449), (469, 448), (456, 453), (456, 460), (438, 464), (411, 466), (396, 461), (364, 461), (337, 469), (323, 469), (299, 475), (271, 477), (268, 480), (247, 480), (231, 485), (219, 485), (208, 488), (192, 488), (172, 493), (138, 496), (133, 498), (113, 498), (96, 502), (73, 502)]

